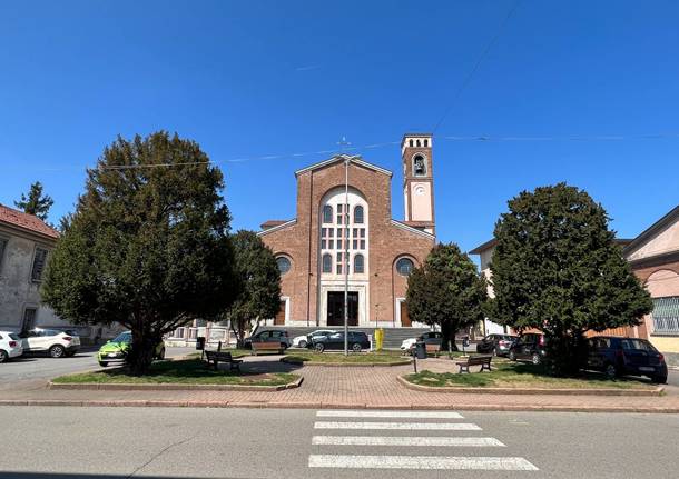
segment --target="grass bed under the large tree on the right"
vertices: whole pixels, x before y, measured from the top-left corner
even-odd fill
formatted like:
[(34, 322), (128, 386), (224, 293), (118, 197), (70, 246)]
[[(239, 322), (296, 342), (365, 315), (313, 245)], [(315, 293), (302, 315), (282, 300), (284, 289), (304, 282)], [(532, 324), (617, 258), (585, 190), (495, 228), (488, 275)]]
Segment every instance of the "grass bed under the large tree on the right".
[[(452, 365), (454, 366), (454, 365)], [(544, 389), (653, 389), (655, 386), (636, 379), (607, 379), (596, 372), (582, 372), (574, 378), (550, 376), (542, 366), (493, 359), (492, 371), (457, 375), (455, 372), (421, 371), (405, 379), (414, 385), (473, 388), (544, 388)]]

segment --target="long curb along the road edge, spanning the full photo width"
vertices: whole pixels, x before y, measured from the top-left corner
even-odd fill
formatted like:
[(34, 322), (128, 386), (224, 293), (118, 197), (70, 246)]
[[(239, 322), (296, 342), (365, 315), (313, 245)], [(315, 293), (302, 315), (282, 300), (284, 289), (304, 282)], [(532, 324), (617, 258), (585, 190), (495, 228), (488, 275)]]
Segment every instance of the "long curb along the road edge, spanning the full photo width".
[(161, 400), (0, 400), (2, 406), (55, 407), (127, 407), (127, 408), (245, 408), (245, 409), (401, 409), (455, 411), (514, 411), (514, 412), (640, 412), (679, 413), (678, 407), (628, 406), (521, 406), (521, 405), (366, 405), (332, 402), (255, 402), (255, 401), (161, 401)]

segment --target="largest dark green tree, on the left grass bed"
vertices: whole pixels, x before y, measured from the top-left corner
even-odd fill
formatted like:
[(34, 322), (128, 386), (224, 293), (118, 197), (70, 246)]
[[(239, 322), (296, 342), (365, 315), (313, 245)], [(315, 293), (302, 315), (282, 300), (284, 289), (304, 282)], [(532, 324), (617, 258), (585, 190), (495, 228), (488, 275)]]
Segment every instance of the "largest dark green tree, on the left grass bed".
[(222, 172), (194, 141), (157, 132), (118, 138), (65, 221), (43, 300), (78, 323), (132, 332), (132, 373), (163, 336), (224, 311), (235, 296)]

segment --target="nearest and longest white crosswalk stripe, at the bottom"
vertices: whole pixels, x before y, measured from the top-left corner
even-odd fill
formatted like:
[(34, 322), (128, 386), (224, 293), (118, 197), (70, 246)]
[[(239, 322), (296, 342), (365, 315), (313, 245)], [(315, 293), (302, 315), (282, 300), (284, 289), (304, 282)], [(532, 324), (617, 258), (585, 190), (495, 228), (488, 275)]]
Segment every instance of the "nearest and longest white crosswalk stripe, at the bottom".
[(436, 457), (436, 456), (334, 456), (312, 455), (309, 468), (347, 469), (473, 469), (504, 471), (537, 471), (523, 458), (501, 457)]

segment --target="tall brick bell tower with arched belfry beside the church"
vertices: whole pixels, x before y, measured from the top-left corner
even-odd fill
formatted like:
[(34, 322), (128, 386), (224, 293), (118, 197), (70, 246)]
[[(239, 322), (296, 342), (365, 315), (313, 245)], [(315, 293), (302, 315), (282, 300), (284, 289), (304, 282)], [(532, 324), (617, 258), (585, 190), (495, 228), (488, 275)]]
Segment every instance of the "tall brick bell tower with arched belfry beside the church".
[(435, 234), (432, 136), (406, 133), (401, 141), (405, 222)]

